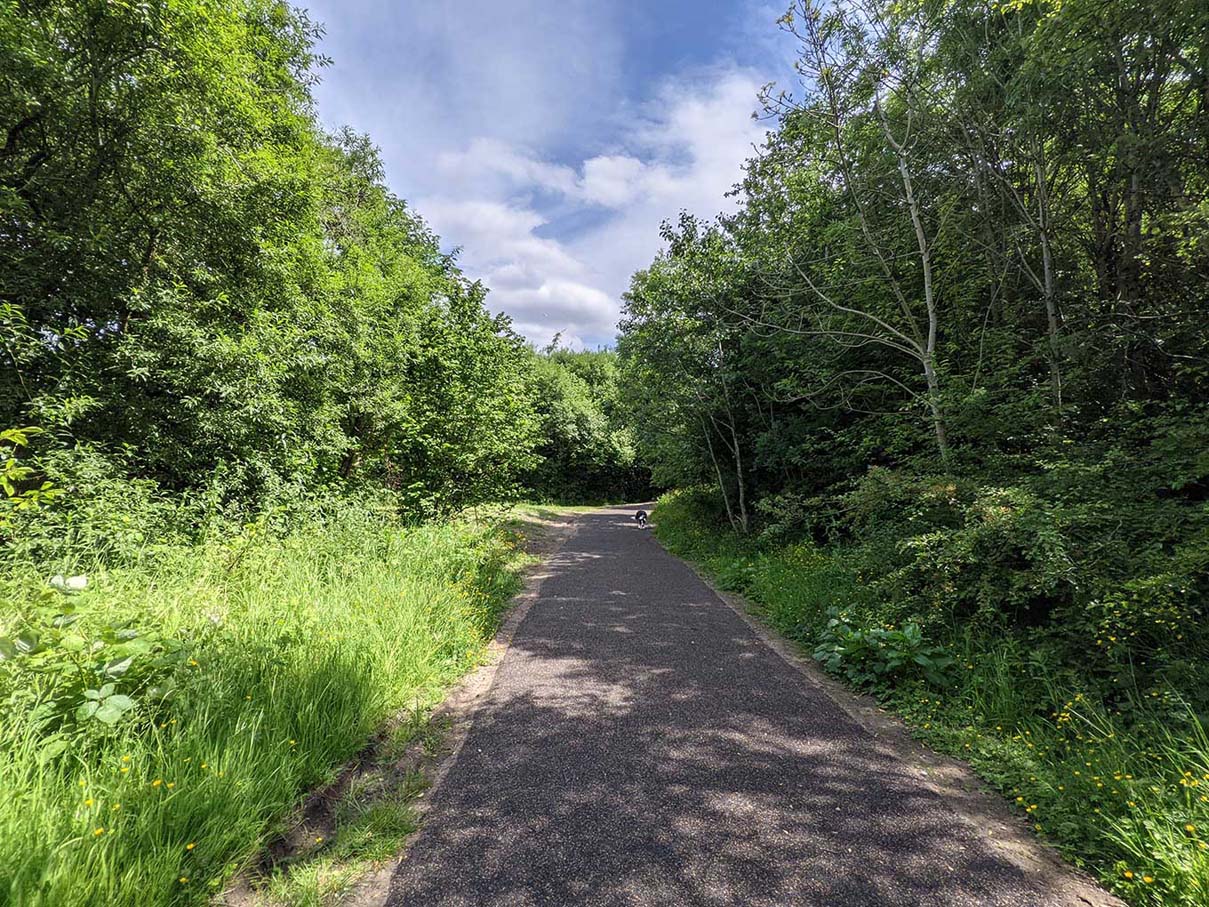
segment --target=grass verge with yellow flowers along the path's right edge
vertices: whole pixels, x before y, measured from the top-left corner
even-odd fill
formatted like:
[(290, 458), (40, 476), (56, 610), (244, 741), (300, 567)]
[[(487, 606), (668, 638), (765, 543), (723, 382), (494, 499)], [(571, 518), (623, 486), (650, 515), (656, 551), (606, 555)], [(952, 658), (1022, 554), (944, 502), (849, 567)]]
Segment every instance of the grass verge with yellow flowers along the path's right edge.
[[(660, 499), (653, 521), (672, 551), (808, 651), (833, 608), (890, 619), (857, 584), (851, 549), (736, 536), (690, 495)], [(1130, 903), (1209, 905), (1209, 738), (1176, 689), (1116, 691), (1110, 707), (1077, 663), (1036, 639), (951, 628), (933, 642), (955, 659), (948, 683), (903, 677), (869, 692)]]

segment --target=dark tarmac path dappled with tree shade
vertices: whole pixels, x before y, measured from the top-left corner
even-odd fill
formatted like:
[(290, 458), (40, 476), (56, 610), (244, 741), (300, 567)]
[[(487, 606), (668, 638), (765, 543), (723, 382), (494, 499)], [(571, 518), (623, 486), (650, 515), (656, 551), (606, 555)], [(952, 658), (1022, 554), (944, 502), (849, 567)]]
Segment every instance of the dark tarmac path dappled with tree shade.
[(630, 515), (554, 556), (393, 907), (1110, 902), (1022, 868)]

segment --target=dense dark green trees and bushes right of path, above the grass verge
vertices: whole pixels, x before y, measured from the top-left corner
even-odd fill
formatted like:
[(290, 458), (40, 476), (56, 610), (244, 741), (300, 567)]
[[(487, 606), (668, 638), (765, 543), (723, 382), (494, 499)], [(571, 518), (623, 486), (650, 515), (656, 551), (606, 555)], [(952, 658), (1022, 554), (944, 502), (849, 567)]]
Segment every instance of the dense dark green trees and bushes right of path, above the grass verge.
[(640, 457), (739, 530), (866, 544), (936, 626), (1164, 670), (1209, 591), (1209, 8), (781, 27), (800, 85), (765, 92), (737, 210), (667, 224), (626, 296)]

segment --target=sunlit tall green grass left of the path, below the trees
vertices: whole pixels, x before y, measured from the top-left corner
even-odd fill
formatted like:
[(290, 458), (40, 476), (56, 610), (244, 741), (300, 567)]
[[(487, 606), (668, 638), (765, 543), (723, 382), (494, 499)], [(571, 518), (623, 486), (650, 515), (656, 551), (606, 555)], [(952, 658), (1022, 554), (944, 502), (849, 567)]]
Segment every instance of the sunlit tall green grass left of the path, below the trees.
[[(70, 602), (6, 579), (0, 634), (70, 605), (89, 646), (0, 664), (0, 902), (204, 903), (383, 720), (480, 658), (515, 555), (491, 525), (349, 519), (175, 549)], [(115, 628), (152, 645), (114, 676), (134, 706), (108, 727), (76, 707)]]

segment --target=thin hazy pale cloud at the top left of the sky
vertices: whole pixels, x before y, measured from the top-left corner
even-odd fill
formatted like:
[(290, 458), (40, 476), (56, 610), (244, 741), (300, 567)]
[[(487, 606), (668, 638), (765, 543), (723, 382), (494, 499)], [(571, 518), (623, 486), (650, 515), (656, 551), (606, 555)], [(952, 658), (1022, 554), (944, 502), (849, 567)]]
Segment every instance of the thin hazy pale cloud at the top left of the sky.
[(475, 135), (544, 148), (620, 92), (623, 30), (595, 0), (301, 0), (326, 25), (317, 88), (332, 125), (382, 146), (403, 195)]

